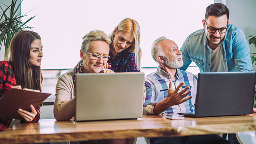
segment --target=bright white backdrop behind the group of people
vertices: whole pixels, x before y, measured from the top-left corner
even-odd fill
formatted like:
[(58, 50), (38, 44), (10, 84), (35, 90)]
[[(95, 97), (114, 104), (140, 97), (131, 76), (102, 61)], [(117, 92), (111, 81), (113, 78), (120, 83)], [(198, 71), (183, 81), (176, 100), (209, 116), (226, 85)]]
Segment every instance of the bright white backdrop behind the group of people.
[(167, 36), (181, 47), (185, 38), (203, 28), (205, 9), (214, 0), (24, 0), (22, 13), (37, 15), (29, 26), (42, 37), (42, 69), (73, 68), (80, 60), (82, 36), (99, 29), (110, 34), (124, 18), (141, 28), (142, 67), (158, 64), (151, 57), (156, 38)]

